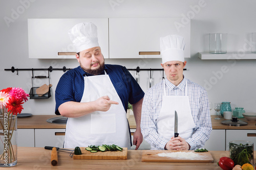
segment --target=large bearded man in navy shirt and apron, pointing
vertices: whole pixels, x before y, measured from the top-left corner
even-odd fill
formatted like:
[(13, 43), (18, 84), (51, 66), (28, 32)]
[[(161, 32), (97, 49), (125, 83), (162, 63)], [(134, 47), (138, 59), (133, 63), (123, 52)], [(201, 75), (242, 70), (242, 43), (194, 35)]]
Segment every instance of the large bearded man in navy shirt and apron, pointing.
[(133, 140), (137, 150), (143, 141), (140, 117), (144, 92), (125, 67), (104, 64), (93, 23), (78, 23), (69, 36), (80, 65), (60, 78), (55, 91), (55, 114), (69, 117), (64, 148), (116, 144), (131, 149), (126, 118), (130, 102), (137, 124)]

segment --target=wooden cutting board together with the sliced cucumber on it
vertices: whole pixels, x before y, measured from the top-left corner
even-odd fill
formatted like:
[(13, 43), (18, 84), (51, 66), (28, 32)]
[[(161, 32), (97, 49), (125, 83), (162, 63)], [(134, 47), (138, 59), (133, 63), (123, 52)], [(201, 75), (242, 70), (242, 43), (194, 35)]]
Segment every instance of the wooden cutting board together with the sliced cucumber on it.
[(74, 159), (127, 159), (127, 148), (121, 148), (117, 145), (91, 145), (80, 147), (81, 155), (73, 156)]

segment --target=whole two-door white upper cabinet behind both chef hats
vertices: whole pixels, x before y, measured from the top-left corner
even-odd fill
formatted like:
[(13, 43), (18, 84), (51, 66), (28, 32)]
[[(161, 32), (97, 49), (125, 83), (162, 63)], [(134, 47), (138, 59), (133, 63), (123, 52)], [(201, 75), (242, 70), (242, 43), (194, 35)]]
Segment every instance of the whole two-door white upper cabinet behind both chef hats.
[(75, 59), (68, 31), (80, 22), (92, 22), (104, 58), (161, 58), (160, 37), (184, 37), (190, 58), (190, 18), (48, 18), (28, 19), (29, 58)]

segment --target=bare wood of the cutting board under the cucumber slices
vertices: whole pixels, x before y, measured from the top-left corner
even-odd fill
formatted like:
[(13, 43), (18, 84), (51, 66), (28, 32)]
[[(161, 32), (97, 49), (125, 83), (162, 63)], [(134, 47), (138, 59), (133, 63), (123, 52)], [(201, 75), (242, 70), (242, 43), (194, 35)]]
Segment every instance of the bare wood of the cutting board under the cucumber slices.
[(86, 148), (80, 147), (82, 155), (74, 155), (74, 159), (127, 159), (127, 148), (122, 151), (106, 151), (92, 153), (87, 151)]

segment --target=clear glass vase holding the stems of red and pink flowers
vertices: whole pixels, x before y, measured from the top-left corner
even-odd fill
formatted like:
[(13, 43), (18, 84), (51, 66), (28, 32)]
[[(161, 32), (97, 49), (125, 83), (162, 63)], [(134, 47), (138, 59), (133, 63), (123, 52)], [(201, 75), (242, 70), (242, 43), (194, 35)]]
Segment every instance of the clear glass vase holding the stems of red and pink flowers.
[(0, 115), (0, 167), (17, 164), (17, 115)]

